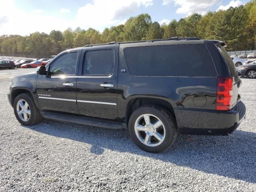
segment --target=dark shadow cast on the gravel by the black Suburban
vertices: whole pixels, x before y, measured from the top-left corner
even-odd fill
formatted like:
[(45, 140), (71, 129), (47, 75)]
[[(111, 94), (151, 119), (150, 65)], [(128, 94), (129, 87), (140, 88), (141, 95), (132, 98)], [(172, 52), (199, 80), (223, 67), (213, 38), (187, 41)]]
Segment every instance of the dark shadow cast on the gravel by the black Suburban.
[(90, 152), (101, 155), (105, 149), (128, 152), (178, 166), (186, 166), (210, 174), (256, 183), (256, 133), (236, 130), (230, 136), (179, 135), (164, 153), (140, 150), (129, 138), (127, 130), (110, 130), (44, 120), (31, 130), (59, 138), (91, 144)]

